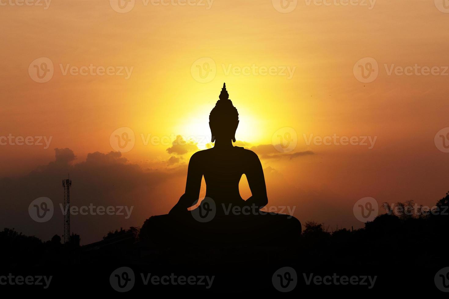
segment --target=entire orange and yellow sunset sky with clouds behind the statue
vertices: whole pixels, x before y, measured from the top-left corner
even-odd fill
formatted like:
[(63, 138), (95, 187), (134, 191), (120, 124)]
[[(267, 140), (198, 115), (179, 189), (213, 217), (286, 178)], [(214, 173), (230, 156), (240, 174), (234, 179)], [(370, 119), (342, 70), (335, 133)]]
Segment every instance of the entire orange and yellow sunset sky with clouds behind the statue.
[[(359, 228), (352, 208), (361, 198), (432, 206), (449, 190), (449, 153), (434, 141), (449, 126), (449, 8), (439, 0), (135, 0), (129, 12), (114, 0), (16, 2), (0, 0), (0, 137), (51, 142), (0, 146), (1, 229), (61, 235), (68, 172), (73, 204), (134, 207), (128, 219), (72, 217), (83, 244), (167, 213), (189, 157), (210, 142), (223, 82), (239, 113), (237, 145), (259, 155), (269, 206), (295, 207), (303, 224)], [(371, 82), (354, 71), (365, 57), (378, 64)], [(53, 77), (40, 83), (42, 61)], [(110, 141), (123, 127), (135, 137), (120, 156)], [(282, 153), (273, 135), (286, 127), (297, 145)], [(375, 142), (308, 144), (311, 134)], [(198, 144), (173, 146), (177, 135)], [(39, 197), (55, 204), (45, 223), (28, 214)]]

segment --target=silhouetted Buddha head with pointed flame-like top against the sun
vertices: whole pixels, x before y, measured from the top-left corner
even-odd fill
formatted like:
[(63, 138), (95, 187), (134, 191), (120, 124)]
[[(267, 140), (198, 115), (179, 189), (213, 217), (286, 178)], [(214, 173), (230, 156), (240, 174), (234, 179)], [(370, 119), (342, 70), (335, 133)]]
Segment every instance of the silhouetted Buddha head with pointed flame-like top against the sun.
[(211, 128), (212, 139), (223, 141), (232, 140), (235, 142), (235, 131), (238, 126), (238, 111), (229, 100), (228, 91), (226, 91), (226, 83), (223, 83), (223, 88), (215, 107), (209, 114), (209, 127)]

